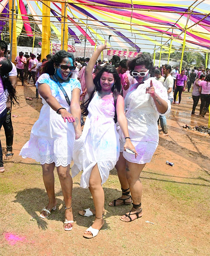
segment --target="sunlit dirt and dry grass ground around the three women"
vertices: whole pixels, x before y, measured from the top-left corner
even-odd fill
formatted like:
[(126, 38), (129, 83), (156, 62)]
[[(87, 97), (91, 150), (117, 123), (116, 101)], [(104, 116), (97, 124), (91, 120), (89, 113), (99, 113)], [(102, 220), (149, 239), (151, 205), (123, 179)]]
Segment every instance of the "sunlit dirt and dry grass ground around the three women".
[[(185, 124), (207, 126), (208, 115), (198, 117), (199, 104), (196, 115), (191, 116), (191, 94), (183, 93), (181, 105), (172, 106), (167, 116), (169, 136), (160, 132), (158, 149), (142, 172), (143, 217), (123, 223), (119, 217), (130, 206), (108, 206), (121, 193), (116, 170), (112, 170), (103, 185), (105, 225), (96, 238), (88, 240), (82, 234), (94, 218), (81, 217), (78, 211), (93, 203), (89, 191), (79, 187), (80, 175), (73, 179), (72, 231), (62, 228), (64, 202), (56, 173), (58, 209), (47, 219), (38, 217), (47, 204), (41, 167), (32, 159), (19, 157), (42, 106), (35, 90), (33, 86), (18, 85), (20, 106), (12, 109), (12, 114), (18, 116), (12, 117), (15, 154), (5, 161), (5, 173), (0, 175), (0, 255), (210, 255), (210, 136), (182, 128)], [(3, 128), (0, 138), (5, 153)], [(166, 161), (173, 162), (174, 167)]]

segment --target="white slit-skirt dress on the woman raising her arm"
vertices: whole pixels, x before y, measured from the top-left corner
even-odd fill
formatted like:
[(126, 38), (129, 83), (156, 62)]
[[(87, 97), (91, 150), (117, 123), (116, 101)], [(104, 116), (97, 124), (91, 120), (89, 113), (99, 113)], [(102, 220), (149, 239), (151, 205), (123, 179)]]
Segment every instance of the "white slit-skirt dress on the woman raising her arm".
[(83, 171), (80, 186), (89, 187), (92, 168), (97, 164), (101, 176), (101, 184), (109, 177), (118, 161), (120, 154), (119, 134), (114, 122), (114, 99), (99, 97), (95, 93), (88, 106), (82, 136), (75, 140), (73, 150), (74, 165), (71, 168), (72, 177)]

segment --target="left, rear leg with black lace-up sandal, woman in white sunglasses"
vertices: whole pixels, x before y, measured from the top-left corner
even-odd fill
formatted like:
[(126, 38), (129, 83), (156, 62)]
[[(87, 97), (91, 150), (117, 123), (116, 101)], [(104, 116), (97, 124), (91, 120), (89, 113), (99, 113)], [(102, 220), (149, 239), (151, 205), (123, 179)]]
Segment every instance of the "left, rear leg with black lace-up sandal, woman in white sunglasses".
[[(126, 176), (126, 171), (125, 171), (125, 167), (126, 167), (126, 160), (124, 159), (122, 152), (120, 152), (120, 157), (119, 160), (117, 161), (115, 168), (117, 169), (117, 175), (121, 184), (121, 188), (122, 189), (128, 189), (129, 188), (129, 184), (128, 184), (128, 180), (127, 180), (127, 176)], [(128, 190), (129, 191), (129, 190)], [(122, 195), (121, 199), (128, 199), (125, 200), (125, 203), (131, 203), (132, 199), (131, 197), (129, 197), (130, 194), (128, 195)], [(123, 201), (122, 200), (116, 200), (115, 205), (118, 206), (119, 204), (121, 204)], [(110, 206), (114, 206), (114, 201), (109, 203)]]

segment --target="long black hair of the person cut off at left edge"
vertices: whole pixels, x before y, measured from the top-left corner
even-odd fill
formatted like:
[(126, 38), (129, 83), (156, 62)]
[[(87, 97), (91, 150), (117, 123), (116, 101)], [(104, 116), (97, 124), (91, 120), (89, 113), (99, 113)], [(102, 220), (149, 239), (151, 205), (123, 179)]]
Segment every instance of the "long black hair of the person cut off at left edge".
[(12, 104), (15, 105), (16, 102), (19, 106), (19, 102), (16, 96), (16, 90), (9, 81), (9, 72), (12, 70), (12, 62), (6, 58), (2, 58), (0, 60), (0, 64), (2, 64), (0, 67), (0, 76), (4, 85), (4, 91), (7, 90), (8, 97), (10, 98)]

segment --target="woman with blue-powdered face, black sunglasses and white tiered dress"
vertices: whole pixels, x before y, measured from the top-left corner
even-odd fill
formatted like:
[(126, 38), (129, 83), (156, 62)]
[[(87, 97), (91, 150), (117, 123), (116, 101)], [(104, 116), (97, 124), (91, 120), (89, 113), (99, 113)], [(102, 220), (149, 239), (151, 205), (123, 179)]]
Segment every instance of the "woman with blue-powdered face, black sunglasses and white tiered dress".
[[(64, 50), (57, 52), (46, 63), (44, 72), (37, 80), (37, 89), (42, 97), (43, 107), (39, 119), (31, 130), (29, 141), (23, 146), (20, 155), (40, 162), (43, 180), (49, 202), (41, 211), (40, 217), (47, 218), (56, 209), (57, 200), (54, 189), (54, 168), (57, 167), (64, 201), (64, 229), (73, 227), (71, 208), (72, 178), (69, 174), (74, 140), (82, 134), (79, 97), (81, 85), (77, 79), (71, 79), (74, 56)], [(68, 105), (58, 83), (66, 91), (71, 102)]]

